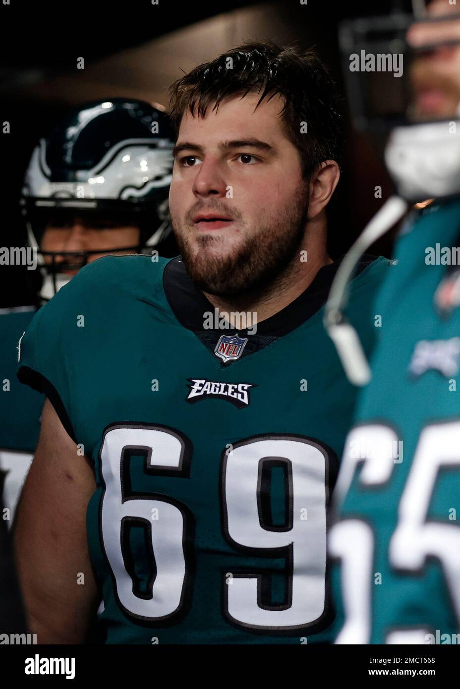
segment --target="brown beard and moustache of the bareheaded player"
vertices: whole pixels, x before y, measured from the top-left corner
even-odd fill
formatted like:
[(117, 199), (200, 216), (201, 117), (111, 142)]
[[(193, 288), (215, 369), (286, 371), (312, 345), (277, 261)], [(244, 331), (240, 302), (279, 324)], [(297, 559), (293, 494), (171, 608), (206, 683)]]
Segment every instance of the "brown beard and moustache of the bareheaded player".
[[(213, 245), (218, 245), (224, 238), (213, 236), (212, 230), (209, 234), (197, 235), (196, 252), (188, 235), (177, 232), (174, 218), (172, 224), (182, 260), (197, 287), (216, 296), (243, 296), (269, 290), (293, 260), (297, 258), (300, 261), (299, 250), (305, 234), (308, 209), (309, 185), (302, 181), (289, 203), (277, 214), (268, 217), (262, 210), (257, 227), (252, 228), (251, 234), (240, 247), (230, 248), (226, 256), (213, 253)], [(222, 212), (224, 207), (207, 206), (207, 210)], [(229, 210), (232, 217), (238, 220), (235, 210)], [(198, 231), (191, 229), (191, 232)]]

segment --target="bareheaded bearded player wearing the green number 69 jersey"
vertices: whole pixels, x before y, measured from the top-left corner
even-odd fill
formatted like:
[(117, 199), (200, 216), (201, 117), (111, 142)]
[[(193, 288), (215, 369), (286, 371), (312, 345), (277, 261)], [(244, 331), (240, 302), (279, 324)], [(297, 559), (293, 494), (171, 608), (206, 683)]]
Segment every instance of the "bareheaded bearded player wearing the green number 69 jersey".
[[(15, 533), (30, 626), (83, 643), (102, 590), (108, 644), (328, 641), (355, 394), (322, 327), (333, 83), (314, 52), (242, 45), (174, 83), (171, 118), (180, 257), (96, 260), (19, 343), (47, 396)], [(366, 352), (388, 269), (351, 284)]]

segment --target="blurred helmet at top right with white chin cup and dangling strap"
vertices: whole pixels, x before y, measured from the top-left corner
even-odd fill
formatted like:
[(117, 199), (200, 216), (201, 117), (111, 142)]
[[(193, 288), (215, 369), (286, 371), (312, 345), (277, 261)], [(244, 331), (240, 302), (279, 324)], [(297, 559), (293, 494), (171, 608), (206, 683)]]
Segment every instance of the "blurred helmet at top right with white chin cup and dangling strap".
[[(431, 8), (425, 0), (412, 0), (410, 15), (395, 12), (345, 23), (340, 44), (355, 127), (377, 138), (390, 132), (384, 158), (396, 187), (396, 194), (342, 260), (324, 309), (324, 325), (348, 379), (364, 385), (370, 380), (370, 368), (359, 337), (344, 316), (348, 284), (359, 256), (401, 220), (411, 204), (421, 206), (434, 197), (460, 194), (458, 72), (439, 76), (432, 61), (438, 54), (450, 59), (452, 50), (458, 55), (460, 12), (436, 0)], [(352, 62), (361, 74), (353, 74)], [(399, 73), (391, 69), (393, 63), (401, 63)], [(448, 98), (439, 99), (441, 89)], [(440, 107), (443, 103), (447, 107)]]

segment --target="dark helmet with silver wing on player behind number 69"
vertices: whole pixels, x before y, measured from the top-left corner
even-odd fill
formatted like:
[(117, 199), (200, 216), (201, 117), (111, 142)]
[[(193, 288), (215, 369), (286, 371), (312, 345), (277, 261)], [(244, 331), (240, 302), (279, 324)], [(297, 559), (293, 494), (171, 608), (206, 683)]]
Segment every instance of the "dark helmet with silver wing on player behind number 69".
[[(102, 253), (41, 251), (43, 230), (52, 217), (78, 214), (91, 221), (109, 216), (138, 225), (138, 245), (117, 251), (146, 253), (158, 247), (162, 253), (161, 247), (171, 248), (167, 199), (173, 146), (167, 114), (144, 101), (123, 98), (81, 105), (39, 141), (25, 173), (21, 205), (30, 244), (37, 247), (48, 283), (43, 298), (68, 281), (64, 270), (80, 268), (91, 254)], [(174, 247), (170, 255), (175, 253)], [(46, 262), (45, 256), (50, 257)]]

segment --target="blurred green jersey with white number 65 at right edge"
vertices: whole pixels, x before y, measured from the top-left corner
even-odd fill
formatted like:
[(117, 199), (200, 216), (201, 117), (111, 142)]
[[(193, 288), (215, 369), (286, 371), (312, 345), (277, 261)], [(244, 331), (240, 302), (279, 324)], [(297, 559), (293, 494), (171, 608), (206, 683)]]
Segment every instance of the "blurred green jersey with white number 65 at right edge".
[(337, 644), (460, 640), (459, 237), (459, 200), (414, 212), (376, 298), (386, 316), (334, 495)]

